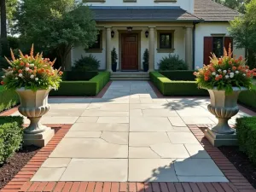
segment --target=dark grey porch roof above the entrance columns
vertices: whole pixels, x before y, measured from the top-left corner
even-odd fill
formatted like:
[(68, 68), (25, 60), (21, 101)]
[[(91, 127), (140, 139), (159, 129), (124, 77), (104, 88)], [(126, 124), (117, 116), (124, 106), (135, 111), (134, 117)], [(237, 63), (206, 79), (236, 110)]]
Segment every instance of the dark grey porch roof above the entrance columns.
[(174, 6), (90, 6), (96, 21), (182, 21), (201, 20)]

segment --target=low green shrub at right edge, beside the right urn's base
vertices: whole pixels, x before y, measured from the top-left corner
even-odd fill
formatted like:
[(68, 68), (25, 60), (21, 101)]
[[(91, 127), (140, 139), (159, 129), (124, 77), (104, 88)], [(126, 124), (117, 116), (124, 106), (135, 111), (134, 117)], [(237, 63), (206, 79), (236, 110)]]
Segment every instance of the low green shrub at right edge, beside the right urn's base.
[(256, 164), (256, 117), (236, 119), (239, 148)]

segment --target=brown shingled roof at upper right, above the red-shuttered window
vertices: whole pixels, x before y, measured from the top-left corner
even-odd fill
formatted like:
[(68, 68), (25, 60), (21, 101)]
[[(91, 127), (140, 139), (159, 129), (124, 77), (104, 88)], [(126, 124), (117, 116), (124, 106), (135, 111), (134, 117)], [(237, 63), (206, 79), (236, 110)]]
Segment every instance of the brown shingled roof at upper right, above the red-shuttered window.
[(202, 20), (234, 20), (240, 13), (212, 0), (194, 0), (194, 15)]

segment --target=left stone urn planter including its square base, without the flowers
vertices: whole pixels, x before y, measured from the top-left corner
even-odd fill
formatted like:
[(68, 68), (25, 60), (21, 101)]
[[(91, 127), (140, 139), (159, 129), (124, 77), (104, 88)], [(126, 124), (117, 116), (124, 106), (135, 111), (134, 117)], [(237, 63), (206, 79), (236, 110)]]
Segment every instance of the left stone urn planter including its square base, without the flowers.
[(48, 95), (50, 90), (17, 89), (20, 96), (19, 112), (30, 119), (30, 125), (24, 130), (24, 144), (44, 147), (54, 136), (54, 130), (42, 125), (40, 119), (49, 111)]

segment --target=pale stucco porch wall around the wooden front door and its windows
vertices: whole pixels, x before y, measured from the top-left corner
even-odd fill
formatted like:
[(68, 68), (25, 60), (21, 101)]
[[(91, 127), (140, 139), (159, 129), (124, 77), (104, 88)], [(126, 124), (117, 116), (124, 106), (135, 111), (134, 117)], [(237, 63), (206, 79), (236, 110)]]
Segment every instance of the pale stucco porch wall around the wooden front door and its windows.
[[(119, 32), (118, 32), (119, 28), (114, 28), (114, 38), (111, 38), (111, 49), (113, 49), (113, 47), (116, 48), (117, 50), (117, 54), (118, 57), (119, 55)], [(123, 28), (120, 28), (120, 30), (123, 30)], [(143, 68), (143, 53), (145, 51), (145, 49), (148, 49), (148, 45), (149, 45), (149, 38), (146, 38), (145, 36), (145, 32), (148, 30), (148, 28), (142, 27), (139, 28), (137, 27), (134, 30), (140, 30), (141, 31), (141, 42), (138, 44), (141, 44), (141, 57), (140, 57), (140, 63), (141, 63), (141, 67)], [(162, 28), (160, 28), (161, 31), (163, 31)], [(179, 55), (179, 57), (183, 60), (185, 60), (185, 41), (184, 41), (184, 29), (182, 27), (168, 27), (168, 30), (174, 30), (174, 52), (172, 53), (172, 55), (176, 54)], [(158, 63), (159, 61), (162, 59), (163, 56), (167, 56), (169, 55), (169, 53), (158, 53), (157, 52), (157, 31), (155, 31), (155, 43), (154, 43), (154, 68), (158, 69)], [(79, 58), (81, 57), (81, 55), (95, 55), (96, 58), (101, 61), (101, 67), (100, 69), (106, 69), (106, 32), (105, 30), (103, 30), (102, 32), (102, 53), (86, 53), (84, 51), (83, 47), (76, 47), (72, 50), (72, 64), (74, 63), (74, 61), (79, 60)], [(121, 63), (120, 63), (121, 65)], [(119, 66), (118, 66), (119, 69)]]

